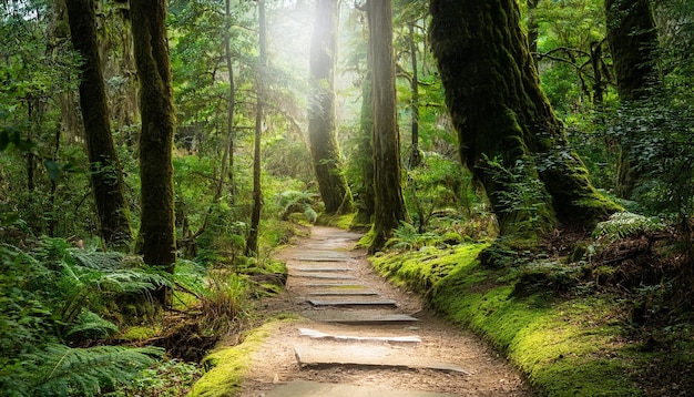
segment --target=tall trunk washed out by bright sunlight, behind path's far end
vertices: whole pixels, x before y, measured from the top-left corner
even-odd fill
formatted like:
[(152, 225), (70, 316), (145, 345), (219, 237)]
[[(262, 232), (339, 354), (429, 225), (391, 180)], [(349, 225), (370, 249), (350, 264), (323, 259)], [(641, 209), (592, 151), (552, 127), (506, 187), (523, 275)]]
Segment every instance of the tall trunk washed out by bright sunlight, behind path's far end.
[(335, 125), (335, 60), (337, 57), (338, 0), (317, 0), (310, 43), (308, 139), (318, 189), (326, 215), (354, 211), (351, 192), (343, 173), (343, 155)]

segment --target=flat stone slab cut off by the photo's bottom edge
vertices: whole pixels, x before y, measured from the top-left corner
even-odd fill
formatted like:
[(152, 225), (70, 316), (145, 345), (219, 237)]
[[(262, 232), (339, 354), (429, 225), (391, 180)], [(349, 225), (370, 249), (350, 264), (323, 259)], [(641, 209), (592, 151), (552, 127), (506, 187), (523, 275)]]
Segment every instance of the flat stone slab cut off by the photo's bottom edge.
[(455, 397), (451, 394), (430, 391), (391, 390), (380, 387), (320, 384), (294, 380), (267, 393), (267, 397)]

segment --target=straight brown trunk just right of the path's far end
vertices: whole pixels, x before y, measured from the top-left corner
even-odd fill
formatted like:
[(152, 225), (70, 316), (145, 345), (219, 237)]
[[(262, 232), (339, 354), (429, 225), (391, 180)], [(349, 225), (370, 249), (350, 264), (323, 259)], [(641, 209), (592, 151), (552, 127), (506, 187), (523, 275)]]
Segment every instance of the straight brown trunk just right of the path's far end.
[(369, 253), (384, 247), (407, 220), (402, 198), (400, 135), (396, 119), (392, 3), (369, 0), (369, 45), (374, 73), (374, 241)]

